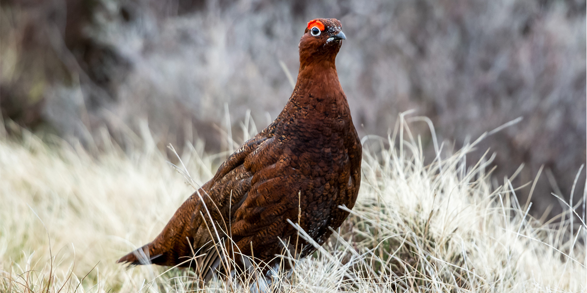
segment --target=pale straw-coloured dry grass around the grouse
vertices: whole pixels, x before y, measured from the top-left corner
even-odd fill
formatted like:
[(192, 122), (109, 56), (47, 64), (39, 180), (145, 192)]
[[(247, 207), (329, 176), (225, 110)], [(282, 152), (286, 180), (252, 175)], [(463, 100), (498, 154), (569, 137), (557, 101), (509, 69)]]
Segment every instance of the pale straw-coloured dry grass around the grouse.
[[(508, 181), (491, 188), (485, 170), (491, 158), (464, 165), (475, 143), (425, 166), (420, 138), (407, 128), (421, 122), (400, 122), (389, 138), (364, 139), (382, 151), (366, 147), (357, 205), (317, 253), (292, 260), (295, 269), (278, 272), (271, 284), (242, 285), (235, 279), (247, 276), (238, 276), (210, 288), (585, 292), (585, 216), (569, 217), (569, 209), (540, 224)], [(125, 153), (104, 144), (110, 147), (99, 155), (25, 130), (18, 141), (2, 135), (0, 291), (198, 290), (190, 271), (114, 263), (153, 239), (193, 192), (144, 130), (141, 148)], [(185, 149), (182, 162), (197, 184), (211, 178), (224, 156), (205, 155), (201, 145)]]

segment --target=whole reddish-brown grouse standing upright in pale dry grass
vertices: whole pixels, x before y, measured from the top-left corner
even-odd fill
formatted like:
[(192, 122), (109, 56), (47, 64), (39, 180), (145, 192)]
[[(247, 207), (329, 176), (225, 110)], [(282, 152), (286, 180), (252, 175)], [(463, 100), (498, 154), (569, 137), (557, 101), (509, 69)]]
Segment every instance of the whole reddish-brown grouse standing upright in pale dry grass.
[(325, 243), (355, 206), (361, 180), (362, 145), (335, 66), (343, 40), (338, 19), (308, 22), (298, 79), (275, 121), (230, 155), (151, 243), (117, 262), (191, 267), (210, 280), (254, 263), (272, 268), (284, 263), (279, 255), (303, 258)]

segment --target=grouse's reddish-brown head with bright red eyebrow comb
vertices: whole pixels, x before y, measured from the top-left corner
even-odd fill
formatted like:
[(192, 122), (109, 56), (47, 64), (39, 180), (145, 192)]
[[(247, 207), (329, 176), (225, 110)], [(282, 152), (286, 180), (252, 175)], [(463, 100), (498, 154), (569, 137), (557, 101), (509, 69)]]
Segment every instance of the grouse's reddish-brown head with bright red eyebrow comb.
[(340, 21), (335, 18), (318, 18), (308, 22), (299, 41), (300, 67), (316, 62), (330, 62), (334, 67), (342, 40), (346, 40)]

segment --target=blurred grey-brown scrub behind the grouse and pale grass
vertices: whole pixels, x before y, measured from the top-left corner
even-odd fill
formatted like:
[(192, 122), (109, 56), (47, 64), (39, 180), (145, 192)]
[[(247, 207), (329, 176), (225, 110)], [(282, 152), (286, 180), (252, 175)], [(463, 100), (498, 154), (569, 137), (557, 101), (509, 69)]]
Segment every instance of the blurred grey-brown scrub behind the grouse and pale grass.
[[(386, 137), (397, 115), (431, 119), (444, 150), (486, 138), (494, 180), (524, 164), (537, 176), (532, 213), (556, 214), (585, 188), (586, 4), (581, 0), (31, 0), (1, 2), (0, 108), (5, 125), (88, 149), (124, 148), (147, 121), (161, 149), (204, 139), (227, 146), (253, 118), (284, 107), (298, 42), (314, 18), (338, 18), (347, 40), (340, 83), (361, 137)], [(230, 114), (230, 115), (229, 115)], [(228, 119), (230, 117), (230, 119)], [(430, 130), (418, 122), (427, 158)], [(578, 175), (578, 177), (577, 177)], [(530, 187), (519, 190), (525, 202)]]

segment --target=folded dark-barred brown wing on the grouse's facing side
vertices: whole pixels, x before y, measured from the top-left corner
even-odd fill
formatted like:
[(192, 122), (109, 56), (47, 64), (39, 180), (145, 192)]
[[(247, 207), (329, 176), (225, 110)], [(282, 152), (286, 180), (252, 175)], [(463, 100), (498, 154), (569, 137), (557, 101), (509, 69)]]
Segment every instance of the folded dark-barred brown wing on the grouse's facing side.
[[(275, 251), (281, 251), (277, 236), (288, 237), (296, 233), (286, 222), (296, 222), (298, 217), (298, 195), (311, 184), (298, 170), (291, 168), (291, 156), (276, 139), (268, 139), (255, 152), (247, 156), (244, 168), (252, 173), (250, 189), (242, 204), (232, 213), (232, 245), (227, 248), (232, 254), (254, 256), (270, 260)], [(266, 255), (265, 255), (266, 254)], [(246, 265), (246, 261), (244, 261)]]

